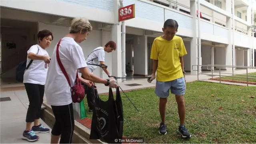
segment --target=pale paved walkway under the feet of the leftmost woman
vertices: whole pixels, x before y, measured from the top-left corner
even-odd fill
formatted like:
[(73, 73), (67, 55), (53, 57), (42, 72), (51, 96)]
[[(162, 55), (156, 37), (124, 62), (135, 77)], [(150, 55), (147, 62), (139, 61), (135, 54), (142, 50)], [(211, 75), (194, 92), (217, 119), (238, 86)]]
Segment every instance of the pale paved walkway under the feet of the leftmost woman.
[[(26, 128), (26, 112), (28, 98), (25, 90), (1, 92), (1, 98), (10, 97), (11, 101), (0, 103), (0, 143), (30, 143), (22, 140), (22, 133)], [(49, 128), (42, 120), (41, 123)], [(34, 143), (49, 144), (51, 134), (38, 134), (40, 139)]]

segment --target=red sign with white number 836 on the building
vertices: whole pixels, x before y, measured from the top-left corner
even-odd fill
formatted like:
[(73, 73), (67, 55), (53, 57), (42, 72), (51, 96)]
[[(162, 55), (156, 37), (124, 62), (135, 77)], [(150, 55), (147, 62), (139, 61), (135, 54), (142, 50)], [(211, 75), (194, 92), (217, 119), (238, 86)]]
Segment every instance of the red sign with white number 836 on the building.
[(119, 8), (119, 22), (135, 18), (135, 4)]

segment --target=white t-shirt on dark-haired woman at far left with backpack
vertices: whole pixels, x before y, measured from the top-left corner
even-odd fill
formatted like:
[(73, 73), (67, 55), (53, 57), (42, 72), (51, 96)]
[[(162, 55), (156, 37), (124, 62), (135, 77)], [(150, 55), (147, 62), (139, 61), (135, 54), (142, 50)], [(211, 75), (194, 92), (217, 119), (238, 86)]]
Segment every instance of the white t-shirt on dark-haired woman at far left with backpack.
[[(39, 51), (38, 51), (39, 50)], [(42, 49), (38, 44), (33, 45), (28, 50), (28, 53), (33, 52), (41, 56), (49, 56), (46, 50)], [(31, 59), (27, 58), (27, 64)], [(44, 85), (46, 81), (46, 74), (48, 70), (49, 64), (46, 64), (44, 60), (33, 60), (31, 65), (24, 72), (23, 83), (32, 83), (32, 84), (41, 84)]]

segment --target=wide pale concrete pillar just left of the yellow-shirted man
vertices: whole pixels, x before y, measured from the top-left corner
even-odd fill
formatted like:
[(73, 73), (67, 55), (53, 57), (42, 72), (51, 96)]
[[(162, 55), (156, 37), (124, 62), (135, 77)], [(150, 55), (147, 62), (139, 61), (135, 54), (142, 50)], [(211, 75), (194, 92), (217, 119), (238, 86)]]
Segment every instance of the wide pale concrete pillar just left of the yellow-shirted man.
[(148, 37), (134, 36), (134, 76), (148, 76)]

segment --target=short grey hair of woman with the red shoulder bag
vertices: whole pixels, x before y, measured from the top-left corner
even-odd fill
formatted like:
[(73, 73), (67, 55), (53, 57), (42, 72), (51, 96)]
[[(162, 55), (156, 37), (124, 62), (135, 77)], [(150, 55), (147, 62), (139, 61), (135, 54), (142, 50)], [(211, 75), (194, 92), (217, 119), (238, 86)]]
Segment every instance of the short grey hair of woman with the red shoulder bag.
[(92, 31), (92, 25), (89, 20), (86, 18), (74, 18), (71, 22), (69, 33), (78, 33), (82, 34)]

